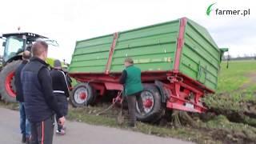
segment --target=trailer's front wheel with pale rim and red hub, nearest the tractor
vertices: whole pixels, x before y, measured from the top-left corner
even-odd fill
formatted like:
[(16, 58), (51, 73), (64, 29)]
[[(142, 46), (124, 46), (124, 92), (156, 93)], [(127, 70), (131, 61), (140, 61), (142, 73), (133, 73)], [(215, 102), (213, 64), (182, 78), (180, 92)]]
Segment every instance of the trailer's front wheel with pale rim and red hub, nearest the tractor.
[(88, 83), (78, 83), (71, 93), (71, 104), (74, 107), (88, 106), (96, 99), (96, 91)]

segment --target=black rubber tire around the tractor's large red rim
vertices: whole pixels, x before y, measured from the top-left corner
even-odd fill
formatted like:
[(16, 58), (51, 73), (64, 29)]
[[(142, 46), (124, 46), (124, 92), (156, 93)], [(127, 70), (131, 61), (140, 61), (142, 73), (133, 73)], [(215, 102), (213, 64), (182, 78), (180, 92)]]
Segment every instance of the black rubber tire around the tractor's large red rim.
[[(6, 76), (7, 74), (10, 74), (11, 72), (15, 71), (18, 66), (22, 63), (21, 60), (13, 61), (8, 63), (6, 66), (2, 67), (2, 70), (0, 72), (0, 95), (3, 101), (5, 102), (17, 102), (16, 98), (11, 97), (10, 94), (7, 93), (6, 90)], [(14, 91), (16, 90), (14, 86), (14, 79), (12, 80), (12, 86)]]

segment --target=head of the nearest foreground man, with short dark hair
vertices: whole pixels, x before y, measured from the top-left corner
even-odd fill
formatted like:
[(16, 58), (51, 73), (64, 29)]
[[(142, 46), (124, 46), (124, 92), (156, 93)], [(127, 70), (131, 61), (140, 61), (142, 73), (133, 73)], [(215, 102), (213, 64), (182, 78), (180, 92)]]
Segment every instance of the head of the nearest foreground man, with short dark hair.
[(42, 52), (48, 50), (48, 44), (44, 41), (38, 40), (32, 45), (33, 56), (40, 56)]

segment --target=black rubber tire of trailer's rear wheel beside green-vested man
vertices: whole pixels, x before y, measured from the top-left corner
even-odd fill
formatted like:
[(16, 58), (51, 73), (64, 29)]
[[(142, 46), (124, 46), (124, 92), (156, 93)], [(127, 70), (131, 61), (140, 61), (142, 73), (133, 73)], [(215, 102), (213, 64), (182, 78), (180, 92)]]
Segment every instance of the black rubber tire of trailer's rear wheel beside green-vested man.
[[(154, 85), (146, 84), (144, 85), (144, 90), (148, 91), (153, 95), (154, 98), (154, 106), (150, 112), (142, 115), (136, 108), (136, 118), (138, 121), (142, 122), (156, 122), (159, 118), (162, 117), (162, 103), (161, 103), (161, 95), (158, 88)], [(142, 92), (143, 92), (142, 91)]]

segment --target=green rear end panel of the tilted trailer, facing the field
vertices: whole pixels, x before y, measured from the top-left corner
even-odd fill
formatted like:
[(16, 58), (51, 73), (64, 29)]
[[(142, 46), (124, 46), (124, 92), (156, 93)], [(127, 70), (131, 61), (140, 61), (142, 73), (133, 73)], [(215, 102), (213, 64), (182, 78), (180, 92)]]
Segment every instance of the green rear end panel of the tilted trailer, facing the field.
[(208, 31), (188, 20), (184, 34), (180, 71), (201, 82), (210, 90), (217, 89), (220, 51)]

